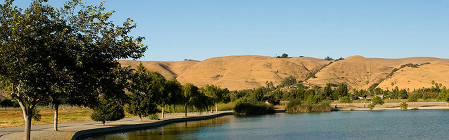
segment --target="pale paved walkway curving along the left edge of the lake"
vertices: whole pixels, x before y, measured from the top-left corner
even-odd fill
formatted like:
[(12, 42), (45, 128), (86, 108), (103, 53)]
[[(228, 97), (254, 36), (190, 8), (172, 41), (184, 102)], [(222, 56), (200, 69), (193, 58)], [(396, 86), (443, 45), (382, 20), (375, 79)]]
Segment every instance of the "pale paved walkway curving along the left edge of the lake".
[[(59, 123), (58, 132), (52, 131), (53, 125), (31, 126), (32, 139), (72, 139), (74, 135), (77, 137), (85, 134), (95, 134), (109, 131), (133, 130), (140, 127), (151, 128), (164, 126), (167, 123), (175, 123), (180, 121), (194, 121), (197, 119), (209, 119), (232, 114), (232, 111), (220, 111), (218, 113), (198, 112), (187, 113), (188, 117), (184, 117), (184, 113), (165, 114), (165, 119), (150, 120), (144, 118), (139, 121), (139, 117), (124, 118), (119, 121), (103, 123), (96, 121), (78, 121), (73, 123)], [(0, 128), (0, 139), (23, 139), (24, 127)]]

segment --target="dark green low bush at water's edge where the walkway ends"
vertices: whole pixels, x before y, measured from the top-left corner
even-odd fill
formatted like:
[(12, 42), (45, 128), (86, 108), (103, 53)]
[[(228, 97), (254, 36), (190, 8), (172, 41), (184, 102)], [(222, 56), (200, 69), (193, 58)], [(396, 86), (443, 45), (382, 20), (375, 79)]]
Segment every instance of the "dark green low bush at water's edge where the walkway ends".
[(255, 103), (236, 103), (234, 108), (234, 114), (247, 115), (247, 114), (273, 114), (274, 106), (262, 102)]

